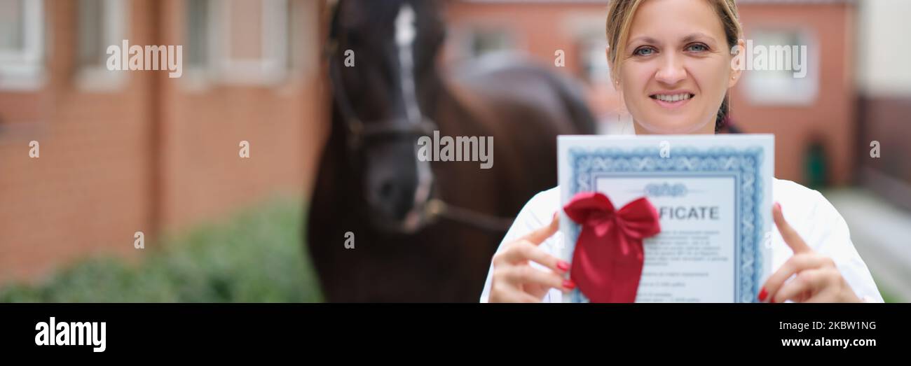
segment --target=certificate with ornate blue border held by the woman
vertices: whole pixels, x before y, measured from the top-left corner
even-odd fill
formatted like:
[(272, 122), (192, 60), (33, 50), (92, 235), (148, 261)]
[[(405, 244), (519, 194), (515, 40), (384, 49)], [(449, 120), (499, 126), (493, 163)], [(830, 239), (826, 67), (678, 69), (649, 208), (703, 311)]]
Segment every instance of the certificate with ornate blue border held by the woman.
[[(636, 302), (755, 302), (770, 272), (772, 135), (561, 136), (561, 207), (600, 192), (619, 209), (646, 197), (660, 233), (643, 240)], [(580, 227), (561, 212), (558, 255)], [(605, 243), (609, 245), (609, 243)], [(588, 302), (578, 289), (564, 302)]]

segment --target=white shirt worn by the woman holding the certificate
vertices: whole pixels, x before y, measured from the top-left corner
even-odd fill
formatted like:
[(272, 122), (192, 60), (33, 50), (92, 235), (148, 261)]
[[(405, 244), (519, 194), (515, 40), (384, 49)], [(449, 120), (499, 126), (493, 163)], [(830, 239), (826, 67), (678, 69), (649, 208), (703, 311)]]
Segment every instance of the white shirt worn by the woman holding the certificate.
[[(834, 260), (835, 266), (851, 289), (855, 291), (857, 297), (870, 302), (883, 302), (879, 290), (876, 289), (873, 276), (870, 275), (870, 270), (866, 268), (864, 260), (860, 259), (860, 255), (857, 254), (857, 250), (851, 242), (847, 224), (832, 204), (818, 191), (790, 180), (773, 179), (772, 189), (773, 201), (781, 203), (784, 219), (800, 234), (810, 248)], [(505, 244), (528, 232), (548, 225), (554, 211), (561, 207), (559, 197), (559, 187), (557, 187), (540, 192), (531, 198), (519, 212), (516, 221), (513, 222), (496, 251), (502, 250)], [(791, 248), (782, 239), (778, 228), (774, 228), (774, 232), (772, 239), (773, 272), (781, 268), (793, 254)], [(559, 235), (555, 235), (548, 238), (541, 243), (540, 248), (551, 255), (556, 255), (555, 238), (558, 237)], [(532, 266), (537, 269), (547, 269), (534, 262)], [(484, 291), (481, 292), (481, 302), (487, 302), (490, 297), (493, 270), (491, 264), (490, 270), (487, 272)], [(542, 301), (561, 302), (562, 297), (563, 292), (551, 289)]]

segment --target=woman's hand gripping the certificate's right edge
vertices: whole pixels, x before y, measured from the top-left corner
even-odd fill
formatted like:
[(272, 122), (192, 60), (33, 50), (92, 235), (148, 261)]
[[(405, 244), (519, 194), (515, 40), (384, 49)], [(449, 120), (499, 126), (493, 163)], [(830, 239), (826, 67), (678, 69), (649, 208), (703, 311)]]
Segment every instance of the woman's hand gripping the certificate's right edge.
[[(769, 302), (861, 302), (835, 267), (835, 262), (806, 245), (797, 231), (784, 220), (782, 206), (772, 208), (775, 226), (793, 256), (765, 281), (759, 300)], [(793, 280), (788, 280), (791, 276)]]

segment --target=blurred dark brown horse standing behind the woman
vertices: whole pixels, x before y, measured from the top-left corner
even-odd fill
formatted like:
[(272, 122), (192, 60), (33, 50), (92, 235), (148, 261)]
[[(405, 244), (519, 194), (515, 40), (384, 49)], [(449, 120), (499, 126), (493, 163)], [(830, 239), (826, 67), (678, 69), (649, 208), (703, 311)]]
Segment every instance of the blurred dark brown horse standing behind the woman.
[[(510, 219), (557, 183), (557, 135), (594, 132), (578, 86), (527, 62), (445, 78), (436, 1), (342, 0), (332, 16), (332, 127), (306, 226), (326, 300), (478, 300)], [(493, 166), (418, 158), (433, 131), (493, 137)]]

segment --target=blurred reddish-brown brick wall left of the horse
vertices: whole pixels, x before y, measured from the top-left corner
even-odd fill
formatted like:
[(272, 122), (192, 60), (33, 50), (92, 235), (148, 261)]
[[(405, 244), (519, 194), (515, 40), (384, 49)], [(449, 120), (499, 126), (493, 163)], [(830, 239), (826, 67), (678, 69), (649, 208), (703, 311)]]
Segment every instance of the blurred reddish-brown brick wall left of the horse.
[[(182, 45), (182, 9), (181, 0), (133, 0), (130, 44)], [(273, 193), (309, 191), (318, 70), (281, 86), (203, 91), (167, 72), (130, 71), (117, 92), (88, 93), (73, 82), (76, 2), (46, 1), (45, 16), (44, 89), (0, 91), (0, 282), (39, 279), (90, 254), (136, 259), (148, 251), (133, 249), (135, 231), (148, 240)], [(184, 63), (187, 76), (186, 50)], [(40, 158), (28, 157), (31, 140)], [(241, 140), (249, 159), (238, 157)]]

